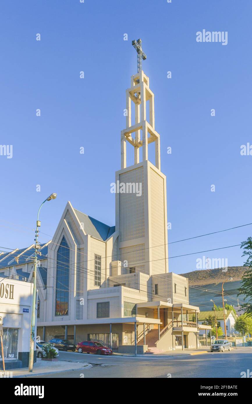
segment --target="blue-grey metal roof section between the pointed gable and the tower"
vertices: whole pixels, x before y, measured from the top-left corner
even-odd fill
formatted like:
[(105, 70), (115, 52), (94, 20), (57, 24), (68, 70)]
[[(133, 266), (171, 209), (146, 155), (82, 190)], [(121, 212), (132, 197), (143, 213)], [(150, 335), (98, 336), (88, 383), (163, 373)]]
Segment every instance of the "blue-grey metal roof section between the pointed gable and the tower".
[(74, 212), (80, 223), (83, 223), (83, 230), (85, 233), (97, 238), (98, 240), (107, 240), (107, 238), (115, 231), (115, 226), (108, 226), (91, 216), (85, 215), (85, 213), (82, 213), (77, 209), (74, 209)]

